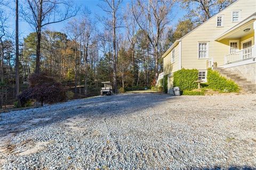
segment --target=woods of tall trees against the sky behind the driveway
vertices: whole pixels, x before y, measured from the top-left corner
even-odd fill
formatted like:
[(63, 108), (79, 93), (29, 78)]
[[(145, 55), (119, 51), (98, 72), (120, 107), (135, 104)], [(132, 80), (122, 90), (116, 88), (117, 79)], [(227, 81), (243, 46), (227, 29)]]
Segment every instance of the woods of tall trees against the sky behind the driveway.
[[(0, 107), (13, 105), (34, 73), (54, 78), (74, 98), (99, 95), (102, 81), (115, 93), (155, 86), (167, 48), (232, 2), (103, 0), (101, 15), (72, 1), (0, 2)], [(187, 14), (174, 21), (179, 7)], [(9, 24), (14, 14), (15, 33)], [(33, 31), (21, 37), (20, 21)], [(63, 27), (49, 27), (57, 23)]]

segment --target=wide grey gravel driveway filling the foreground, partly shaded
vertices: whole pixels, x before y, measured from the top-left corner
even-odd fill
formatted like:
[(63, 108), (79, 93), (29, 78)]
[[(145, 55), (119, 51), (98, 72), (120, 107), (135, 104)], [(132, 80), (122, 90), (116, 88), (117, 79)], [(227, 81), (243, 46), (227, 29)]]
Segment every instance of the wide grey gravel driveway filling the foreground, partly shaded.
[(0, 169), (256, 169), (256, 95), (124, 94), (0, 116)]

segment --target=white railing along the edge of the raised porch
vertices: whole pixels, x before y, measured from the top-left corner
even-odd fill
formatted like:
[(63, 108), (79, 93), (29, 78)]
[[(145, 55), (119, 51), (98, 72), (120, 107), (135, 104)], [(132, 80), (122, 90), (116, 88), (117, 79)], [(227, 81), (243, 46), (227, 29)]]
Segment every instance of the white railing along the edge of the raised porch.
[(234, 63), (238, 61), (247, 60), (255, 57), (255, 46), (239, 50), (236, 53), (232, 53), (225, 56), (225, 64)]

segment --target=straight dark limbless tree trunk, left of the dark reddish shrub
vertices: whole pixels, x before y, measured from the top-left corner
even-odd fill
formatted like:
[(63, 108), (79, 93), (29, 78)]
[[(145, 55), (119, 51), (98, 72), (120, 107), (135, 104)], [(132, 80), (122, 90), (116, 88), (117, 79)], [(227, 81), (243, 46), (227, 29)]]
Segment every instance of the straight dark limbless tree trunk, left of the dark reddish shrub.
[(16, 0), (16, 58), (15, 58), (15, 84), (16, 84), (16, 96), (19, 96), (20, 92), (20, 79), (19, 79), (19, 2)]

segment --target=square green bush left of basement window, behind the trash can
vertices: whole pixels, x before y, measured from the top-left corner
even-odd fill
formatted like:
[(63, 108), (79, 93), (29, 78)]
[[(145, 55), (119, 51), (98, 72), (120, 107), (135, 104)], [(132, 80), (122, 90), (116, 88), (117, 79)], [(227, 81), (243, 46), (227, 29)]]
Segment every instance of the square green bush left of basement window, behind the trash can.
[(180, 87), (180, 90), (191, 90), (197, 88), (198, 70), (181, 69), (173, 73), (173, 87)]

